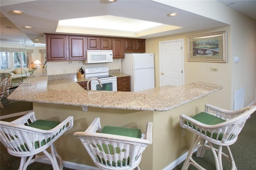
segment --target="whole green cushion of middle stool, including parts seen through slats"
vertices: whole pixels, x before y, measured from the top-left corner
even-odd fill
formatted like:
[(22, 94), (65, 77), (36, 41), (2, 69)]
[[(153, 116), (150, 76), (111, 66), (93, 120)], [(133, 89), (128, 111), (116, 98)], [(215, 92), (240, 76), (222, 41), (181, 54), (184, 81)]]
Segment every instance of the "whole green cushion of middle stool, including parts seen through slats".
[[(112, 135), (120, 135), (120, 136), (127, 136), (127, 137), (134, 137), (134, 138), (141, 138), (141, 131), (140, 129), (132, 129), (132, 128), (126, 128), (126, 127), (113, 127), (113, 126), (105, 126), (101, 133), (106, 133), (106, 134), (112, 134)], [(116, 150), (116, 154), (120, 154), (120, 152), (126, 152), (125, 149), (120, 149), (118, 147), (116, 147), (114, 149), (114, 147), (112, 145), (106, 145), (106, 144), (102, 144), (102, 147), (100, 147), (100, 145), (97, 144), (97, 147), (99, 150), (103, 151), (106, 154), (110, 154), (110, 155), (114, 155), (114, 150)], [(110, 153), (108, 153), (108, 150)], [(104, 158), (100, 158), (98, 155), (98, 160), (101, 162), (101, 160), (103, 162), (105, 162)], [(127, 164), (129, 164), (130, 161), (130, 157), (127, 158)], [(123, 158), (123, 160), (118, 160), (117, 161), (117, 166), (120, 167), (121, 166), (121, 162), (122, 162), (122, 166), (125, 166), (126, 164), (126, 159)], [(112, 164), (112, 166), (116, 166), (115, 162), (109, 162), (107, 160), (107, 164), (108, 166), (110, 166), (110, 164)]]

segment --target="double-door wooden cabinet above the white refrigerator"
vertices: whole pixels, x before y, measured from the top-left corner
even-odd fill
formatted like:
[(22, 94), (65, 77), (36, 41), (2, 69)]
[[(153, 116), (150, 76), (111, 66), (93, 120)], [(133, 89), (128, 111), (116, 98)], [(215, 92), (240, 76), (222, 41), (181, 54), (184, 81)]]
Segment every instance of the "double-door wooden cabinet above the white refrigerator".
[(145, 39), (124, 39), (124, 53), (145, 53)]

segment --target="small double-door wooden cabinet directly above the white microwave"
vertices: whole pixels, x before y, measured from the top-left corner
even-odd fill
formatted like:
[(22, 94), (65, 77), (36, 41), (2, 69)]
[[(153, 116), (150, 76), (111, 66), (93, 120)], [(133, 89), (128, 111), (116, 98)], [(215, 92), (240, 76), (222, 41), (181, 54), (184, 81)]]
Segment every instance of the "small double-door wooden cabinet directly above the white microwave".
[(112, 50), (111, 38), (88, 37), (88, 50)]

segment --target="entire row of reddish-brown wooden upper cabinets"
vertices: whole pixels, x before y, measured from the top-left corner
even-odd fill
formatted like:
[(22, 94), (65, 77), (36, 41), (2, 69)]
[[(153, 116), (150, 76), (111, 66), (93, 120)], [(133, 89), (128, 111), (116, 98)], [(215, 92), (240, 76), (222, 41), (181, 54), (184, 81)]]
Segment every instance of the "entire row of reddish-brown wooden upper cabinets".
[(90, 35), (46, 35), (47, 61), (86, 60), (86, 50), (113, 50), (113, 59), (124, 53), (145, 53), (145, 39), (92, 37)]

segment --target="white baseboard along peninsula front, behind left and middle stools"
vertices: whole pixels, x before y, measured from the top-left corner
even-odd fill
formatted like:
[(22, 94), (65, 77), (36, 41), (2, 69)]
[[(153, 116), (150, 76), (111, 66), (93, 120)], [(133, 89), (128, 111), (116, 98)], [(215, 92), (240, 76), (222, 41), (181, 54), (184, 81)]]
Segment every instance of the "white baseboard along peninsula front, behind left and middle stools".
[[(45, 163), (45, 164), (51, 164), (50, 160), (48, 158), (43, 158), (38, 160), (37, 162)], [(68, 161), (63, 161), (63, 166), (65, 168), (70, 168), (74, 170), (100, 170), (100, 168), (94, 167), (94, 166), (88, 166), (84, 164), (77, 164), (74, 162), (68, 162)]]

